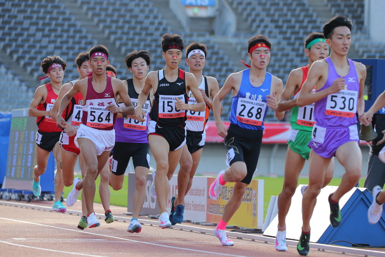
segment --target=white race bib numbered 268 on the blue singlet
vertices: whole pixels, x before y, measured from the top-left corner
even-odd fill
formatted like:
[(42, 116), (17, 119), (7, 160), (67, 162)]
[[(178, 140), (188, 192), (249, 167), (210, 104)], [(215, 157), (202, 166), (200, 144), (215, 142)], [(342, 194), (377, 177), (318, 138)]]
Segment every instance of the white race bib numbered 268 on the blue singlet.
[(266, 102), (239, 98), (236, 106), (236, 120), (244, 124), (262, 126), (266, 106)]

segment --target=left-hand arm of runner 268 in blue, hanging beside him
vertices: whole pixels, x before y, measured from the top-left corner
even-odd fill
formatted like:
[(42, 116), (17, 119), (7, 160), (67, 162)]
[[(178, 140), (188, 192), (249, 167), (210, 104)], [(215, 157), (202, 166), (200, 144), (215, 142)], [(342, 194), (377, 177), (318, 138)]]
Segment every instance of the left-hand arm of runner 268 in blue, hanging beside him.
[[(226, 79), (225, 84), (222, 86), (222, 88), (219, 90), (219, 92), (214, 96), (213, 99), (213, 113), (214, 113), (214, 119), (215, 119), (215, 125), (217, 126), (218, 135), (225, 137), (227, 136), (227, 129), (226, 126), (222, 123), (221, 119), (221, 102), (222, 100), (228, 95), (228, 93), (233, 90), (234, 91), (239, 88), (240, 82), (242, 80), (241, 73), (232, 73), (230, 76)], [(236, 88), (235, 88), (236, 86)], [(237, 93), (237, 92), (236, 92)]]

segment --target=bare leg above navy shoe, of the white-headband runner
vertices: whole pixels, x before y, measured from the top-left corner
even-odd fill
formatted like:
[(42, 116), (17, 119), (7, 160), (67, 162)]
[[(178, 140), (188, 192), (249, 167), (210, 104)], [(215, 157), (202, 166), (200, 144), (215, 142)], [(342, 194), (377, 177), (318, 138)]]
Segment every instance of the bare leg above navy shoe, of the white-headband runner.
[[(174, 206), (185, 205), (185, 193), (189, 183), (189, 174), (192, 168), (192, 156), (187, 148), (187, 144), (182, 147), (182, 155), (179, 160), (178, 171), (178, 195), (174, 201)], [(179, 197), (178, 197), (179, 196)]]

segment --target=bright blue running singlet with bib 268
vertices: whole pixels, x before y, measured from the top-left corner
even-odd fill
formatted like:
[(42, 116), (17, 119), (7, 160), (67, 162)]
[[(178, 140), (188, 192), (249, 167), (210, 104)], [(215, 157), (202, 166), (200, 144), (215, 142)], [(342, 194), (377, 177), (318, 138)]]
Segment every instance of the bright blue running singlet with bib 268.
[(271, 74), (266, 72), (264, 83), (258, 87), (251, 85), (249, 75), (250, 69), (242, 71), (238, 94), (232, 97), (229, 120), (243, 129), (263, 130), (269, 109), (266, 96), (270, 94)]

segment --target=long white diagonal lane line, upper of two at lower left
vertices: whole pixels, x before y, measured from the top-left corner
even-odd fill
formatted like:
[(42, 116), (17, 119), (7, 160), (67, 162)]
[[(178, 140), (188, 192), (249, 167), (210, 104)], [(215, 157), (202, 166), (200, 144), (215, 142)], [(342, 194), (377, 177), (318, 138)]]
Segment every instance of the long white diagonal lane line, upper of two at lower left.
[[(85, 234), (90, 234), (90, 235), (95, 235), (95, 236), (110, 237), (110, 238), (120, 239), (120, 240), (124, 240), (124, 241), (129, 241), (129, 242), (142, 243), (142, 244), (146, 244), (146, 245), (161, 246), (161, 247), (172, 248), (172, 249), (177, 249), (177, 250), (193, 251), (193, 252), (198, 252), (198, 253), (213, 254), (213, 255), (222, 255), (222, 256), (244, 257), (244, 256), (242, 256), (242, 255), (231, 255), (231, 254), (225, 254), (225, 253), (215, 253), (215, 252), (207, 252), (207, 251), (202, 251), (202, 250), (194, 250), (194, 249), (188, 249), (188, 248), (181, 248), (181, 247), (174, 247), (174, 246), (159, 245), (159, 244), (154, 244), (154, 243), (149, 243), (149, 242), (142, 242), (142, 241), (136, 241), (136, 240), (131, 240), (131, 239), (127, 239), (127, 238), (116, 237), (116, 236), (102, 235), (102, 234), (96, 234), (96, 233), (91, 233), (91, 232), (86, 232), (86, 231), (75, 230), (75, 229), (69, 229), (69, 228), (63, 228), (63, 227), (56, 227), (56, 226), (44, 225), (44, 224), (39, 224), (39, 223), (34, 223), (34, 222), (28, 222), (28, 221), (23, 221), (23, 220), (17, 220), (17, 219), (10, 219), (10, 218), (3, 218), (3, 217), (0, 217), (0, 219), (10, 220), (10, 221), (16, 221), (16, 222), (21, 222), (21, 223), (27, 223), (27, 224), (33, 224), (33, 225), (39, 225), (39, 226), (45, 226), (45, 227), (59, 228), (59, 229), (68, 230), (68, 231), (74, 231), (74, 232), (79, 232), (79, 233), (85, 233)], [(7, 242), (0, 241), (0, 243), (7, 243)], [(7, 243), (7, 244), (8, 244), (8, 243)], [(9, 244), (10, 244), (10, 243), (9, 243)]]

